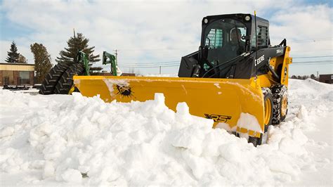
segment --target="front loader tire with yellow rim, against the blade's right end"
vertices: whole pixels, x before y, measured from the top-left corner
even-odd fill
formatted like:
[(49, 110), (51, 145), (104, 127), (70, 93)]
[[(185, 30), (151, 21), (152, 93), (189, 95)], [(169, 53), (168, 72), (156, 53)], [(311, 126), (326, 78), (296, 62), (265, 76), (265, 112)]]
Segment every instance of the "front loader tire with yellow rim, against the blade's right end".
[(249, 136), (249, 143), (253, 143), (254, 146), (261, 145), (267, 142), (268, 127), (272, 124), (273, 120), (273, 94), (268, 88), (262, 88), (263, 91), (263, 103), (264, 103), (264, 120), (265, 129), (264, 133), (260, 135), (260, 138)]

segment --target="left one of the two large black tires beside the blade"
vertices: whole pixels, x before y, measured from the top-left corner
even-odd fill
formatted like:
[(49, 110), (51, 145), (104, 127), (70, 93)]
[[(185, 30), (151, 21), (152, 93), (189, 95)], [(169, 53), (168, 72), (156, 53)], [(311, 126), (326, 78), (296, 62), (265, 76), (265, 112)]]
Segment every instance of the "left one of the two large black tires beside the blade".
[(54, 93), (55, 85), (57, 85), (60, 77), (70, 67), (70, 63), (58, 63), (51, 68), (50, 72), (44, 78), (43, 83), (39, 87), (39, 94), (49, 95)]

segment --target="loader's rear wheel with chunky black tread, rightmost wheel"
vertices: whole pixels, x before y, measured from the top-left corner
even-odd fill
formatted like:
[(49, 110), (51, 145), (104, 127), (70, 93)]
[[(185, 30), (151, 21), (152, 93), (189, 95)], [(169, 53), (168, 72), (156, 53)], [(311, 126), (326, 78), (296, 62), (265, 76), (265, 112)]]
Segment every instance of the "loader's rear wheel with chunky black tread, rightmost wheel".
[(271, 87), (273, 93), (273, 120), (272, 124), (283, 122), (288, 113), (288, 92), (283, 84), (275, 84)]

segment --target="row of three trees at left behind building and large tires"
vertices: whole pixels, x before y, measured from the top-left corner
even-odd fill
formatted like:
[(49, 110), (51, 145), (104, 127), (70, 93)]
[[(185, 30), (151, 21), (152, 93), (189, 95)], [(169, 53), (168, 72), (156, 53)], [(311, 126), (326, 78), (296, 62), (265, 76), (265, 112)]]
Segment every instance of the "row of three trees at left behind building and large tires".
[[(90, 73), (95, 74), (103, 70), (102, 67), (91, 67), (93, 63), (100, 60), (99, 55), (93, 55), (95, 46), (89, 47), (89, 39), (84, 37), (83, 34), (77, 33), (67, 40), (67, 47), (59, 52), (59, 56), (55, 59), (56, 63), (77, 63), (78, 51), (84, 51), (89, 58)], [(43, 44), (34, 43), (30, 45), (30, 50), (34, 54), (34, 65), (36, 71), (36, 81), (43, 82), (44, 77), (52, 68), (51, 56), (48, 53), (46, 46)], [(12, 42), (11, 48), (7, 52), (7, 63), (27, 63), (27, 58), (18, 53), (18, 48), (15, 41)]]

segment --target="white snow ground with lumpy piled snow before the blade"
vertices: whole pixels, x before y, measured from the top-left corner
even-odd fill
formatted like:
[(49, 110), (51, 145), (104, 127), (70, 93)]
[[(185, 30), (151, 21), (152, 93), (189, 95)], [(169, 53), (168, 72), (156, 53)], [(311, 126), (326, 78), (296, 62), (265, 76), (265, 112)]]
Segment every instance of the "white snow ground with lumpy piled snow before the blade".
[(212, 121), (144, 103), (0, 91), (0, 184), (332, 186), (332, 85), (290, 80), (289, 114), (255, 148)]

